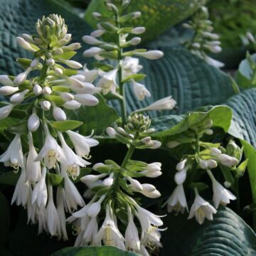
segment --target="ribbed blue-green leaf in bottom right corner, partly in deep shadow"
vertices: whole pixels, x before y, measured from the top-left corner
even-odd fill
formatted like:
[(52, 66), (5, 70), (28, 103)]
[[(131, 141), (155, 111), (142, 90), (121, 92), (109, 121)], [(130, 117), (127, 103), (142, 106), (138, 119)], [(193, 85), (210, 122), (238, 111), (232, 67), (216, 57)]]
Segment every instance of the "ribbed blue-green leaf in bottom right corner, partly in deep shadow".
[(166, 218), (170, 227), (162, 233), (161, 255), (172, 256), (247, 256), (256, 255), (256, 235), (233, 210), (220, 206), (213, 221), (199, 225), (187, 216)]

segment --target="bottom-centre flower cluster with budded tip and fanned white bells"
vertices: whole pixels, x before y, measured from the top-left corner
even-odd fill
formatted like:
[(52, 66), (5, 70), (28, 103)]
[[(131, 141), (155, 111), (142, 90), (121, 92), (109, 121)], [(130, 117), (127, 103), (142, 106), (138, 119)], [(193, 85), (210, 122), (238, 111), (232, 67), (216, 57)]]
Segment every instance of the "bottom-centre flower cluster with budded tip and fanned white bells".
[[(86, 184), (85, 196), (92, 198), (86, 206), (72, 214), (68, 221), (73, 222), (78, 232), (75, 245), (114, 245), (122, 249), (149, 255), (147, 250), (161, 246), (159, 226), (161, 218), (139, 206), (132, 198), (141, 193), (149, 198), (158, 198), (159, 191), (149, 183), (140, 183), (137, 178), (155, 178), (161, 175), (161, 163), (146, 164), (131, 159), (134, 149), (156, 149), (160, 142), (154, 141), (149, 134), (149, 117), (134, 114), (129, 117), (124, 129), (108, 128), (107, 133), (120, 142), (127, 144), (128, 151), (121, 165), (112, 160), (93, 166), (97, 174), (81, 178)], [(100, 222), (105, 216), (103, 223)], [(136, 218), (136, 220), (135, 220)], [(136, 222), (140, 223), (137, 228)], [(119, 226), (128, 223), (124, 235)], [(100, 224), (100, 225), (99, 225)], [(140, 234), (140, 235), (139, 235)]]

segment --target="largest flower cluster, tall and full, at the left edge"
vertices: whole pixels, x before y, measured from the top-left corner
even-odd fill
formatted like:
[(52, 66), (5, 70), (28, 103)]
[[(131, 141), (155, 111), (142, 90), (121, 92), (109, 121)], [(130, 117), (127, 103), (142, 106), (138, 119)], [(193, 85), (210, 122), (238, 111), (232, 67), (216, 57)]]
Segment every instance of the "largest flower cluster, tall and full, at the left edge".
[[(80, 43), (68, 44), (71, 34), (67, 33), (63, 18), (55, 14), (43, 16), (36, 23), (36, 31), (37, 35), (23, 34), (17, 38), (20, 46), (33, 53), (33, 60), (18, 59), (26, 70), (16, 77), (0, 76), (4, 85), (0, 94), (10, 96), (10, 104), (0, 109), (0, 118), (8, 117), (17, 105), (26, 107), (23, 122), (13, 130), (16, 136), (0, 161), (17, 172), (21, 169), (12, 203), (27, 208), (28, 221), (38, 222), (39, 232), (46, 230), (50, 235), (68, 239), (65, 210), (71, 212), (85, 205), (72, 179), (80, 175), (80, 168), (90, 164), (86, 160), (90, 147), (98, 142), (72, 132), (70, 129), (80, 122), (66, 120), (65, 109), (97, 105), (97, 97), (92, 95), (97, 90), (91, 83), (95, 75), (89, 70), (83, 70), (83, 74), (74, 70), (82, 68), (80, 63), (70, 60)], [(27, 79), (33, 70), (39, 76)], [(64, 136), (68, 136), (75, 150)], [(23, 154), (26, 140), (28, 151)], [(57, 207), (53, 201), (55, 183)]]

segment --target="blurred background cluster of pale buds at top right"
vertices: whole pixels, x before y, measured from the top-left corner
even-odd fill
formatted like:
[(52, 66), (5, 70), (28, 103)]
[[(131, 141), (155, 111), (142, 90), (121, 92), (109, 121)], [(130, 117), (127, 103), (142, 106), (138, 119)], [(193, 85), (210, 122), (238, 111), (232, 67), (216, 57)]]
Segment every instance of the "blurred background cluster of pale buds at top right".
[(202, 6), (192, 20), (184, 23), (183, 26), (194, 31), (191, 41), (185, 43), (186, 48), (199, 58), (206, 60), (208, 64), (222, 68), (223, 63), (210, 58), (207, 54), (208, 52), (220, 53), (222, 50), (219, 41), (220, 37), (213, 33), (213, 22), (209, 20), (208, 9)]

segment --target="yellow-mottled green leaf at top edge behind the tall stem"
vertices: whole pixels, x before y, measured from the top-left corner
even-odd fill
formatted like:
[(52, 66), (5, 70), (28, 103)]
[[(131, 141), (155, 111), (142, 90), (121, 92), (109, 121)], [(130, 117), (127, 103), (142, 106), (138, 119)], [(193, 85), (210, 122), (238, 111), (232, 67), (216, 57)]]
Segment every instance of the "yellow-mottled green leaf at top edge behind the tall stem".
[[(191, 16), (199, 6), (203, 5), (202, 0), (139, 0), (131, 1), (127, 12), (141, 11), (142, 16), (130, 22), (131, 26), (145, 26), (146, 33), (142, 35), (144, 41), (149, 41), (176, 23)], [(94, 11), (105, 16), (110, 16), (102, 0), (92, 0), (85, 13), (85, 20), (93, 27), (97, 21), (92, 18)]]

